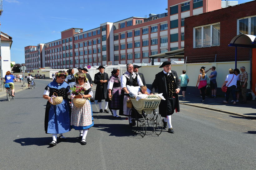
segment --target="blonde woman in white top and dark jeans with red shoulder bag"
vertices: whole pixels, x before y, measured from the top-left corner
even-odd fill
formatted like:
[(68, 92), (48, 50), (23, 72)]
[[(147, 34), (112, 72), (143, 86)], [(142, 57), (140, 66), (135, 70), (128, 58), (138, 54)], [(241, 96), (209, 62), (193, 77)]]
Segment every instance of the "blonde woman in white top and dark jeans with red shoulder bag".
[(237, 78), (236, 75), (234, 75), (234, 70), (232, 68), (229, 69), (229, 74), (226, 76), (226, 80), (224, 81), (223, 85), (221, 88), (226, 85), (227, 92), (226, 92), (226, 99), (223, 101), (224, 103), (228, 103), (229, 101), (229, 94), (231, 92), (233, 96), (233, 104), (236, 104), (236, 95), (235, 95), (235, 90), (236, 90), (236, 82)]

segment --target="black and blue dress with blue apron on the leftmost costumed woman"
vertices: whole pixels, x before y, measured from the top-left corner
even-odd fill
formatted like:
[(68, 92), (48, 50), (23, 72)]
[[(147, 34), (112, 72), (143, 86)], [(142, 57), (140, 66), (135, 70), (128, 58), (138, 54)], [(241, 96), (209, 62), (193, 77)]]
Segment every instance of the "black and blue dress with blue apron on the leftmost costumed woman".
[(45, 90), (50, 93), (49, 97), (52, 97), (54, 92), (57, 93), (59, 97), (63, 97), (62, 103), (57, 105), (52, 105), (49, 101), (47, 101), (45, 110), (46, 133), (60, 134), (71, 131), (71, 108), (67, 100), (67, 93), (69, 92), (69, 89), (70, 86), (66, 82), (58, 84), (56, 79), (46, 86)]

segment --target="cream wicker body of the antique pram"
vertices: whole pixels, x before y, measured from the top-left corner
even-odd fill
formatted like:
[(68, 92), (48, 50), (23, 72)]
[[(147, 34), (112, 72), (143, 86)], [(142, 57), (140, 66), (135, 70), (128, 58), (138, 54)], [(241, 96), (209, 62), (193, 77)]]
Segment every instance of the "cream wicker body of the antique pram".
[(144, 111), (146, 114), (152, 113), (156, 108), (158, 108), (161, 99), (155, 95), (148, 95), (145, 99), (130, 99), (133, 107), (141, 114)]

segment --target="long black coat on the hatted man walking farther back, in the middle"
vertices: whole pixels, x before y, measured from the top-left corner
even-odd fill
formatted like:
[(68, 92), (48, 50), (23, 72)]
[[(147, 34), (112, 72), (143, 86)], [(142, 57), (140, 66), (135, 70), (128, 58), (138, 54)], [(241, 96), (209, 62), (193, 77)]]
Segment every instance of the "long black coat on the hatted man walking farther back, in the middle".
[[(101, 73), (98, 72), (94, 76), (94, 83), (97, 85), (96, 86), (96, 91), (95, 91), (95, 100), (102, 100), (102, 99), (107, 99), (108, 97), (108, 74), (104, 72), (104, 80), (107, 80), (106, 83), (101, 84)], [(103, 86), (103, 90), (102, 90)]]

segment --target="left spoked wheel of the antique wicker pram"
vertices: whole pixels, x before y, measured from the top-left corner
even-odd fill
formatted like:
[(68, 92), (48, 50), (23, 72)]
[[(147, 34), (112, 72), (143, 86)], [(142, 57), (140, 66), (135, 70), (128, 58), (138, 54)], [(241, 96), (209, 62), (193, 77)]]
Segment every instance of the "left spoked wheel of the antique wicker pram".
[(131, 130), (134, 131), (136, 134), (139, 134), (140, 136), (146, 135), (146, 122), (143, 115), (139, 114), (138, 111), (134, 108), (131, 108), (130, 110), (130, 116), (129, 118), (133, 118), (135, 120), (136, 125), (131, 126)]

